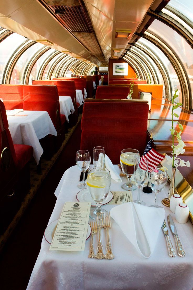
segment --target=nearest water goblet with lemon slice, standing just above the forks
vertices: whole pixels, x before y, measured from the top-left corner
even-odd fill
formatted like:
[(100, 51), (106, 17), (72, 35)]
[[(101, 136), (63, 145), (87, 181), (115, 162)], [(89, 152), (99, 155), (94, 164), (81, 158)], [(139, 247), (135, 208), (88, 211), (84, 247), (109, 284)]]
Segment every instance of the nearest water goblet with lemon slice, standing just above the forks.
[(102, 167), (91, 168), (87, 175), (87, 188), (96, 203), (96, 209), (90, 211), (90, 217), (97, 219), (97, 213), (106, 213), (101, 208), (102, 201), (107, 197), (111, 185), (111, 175), (108, 169)]

